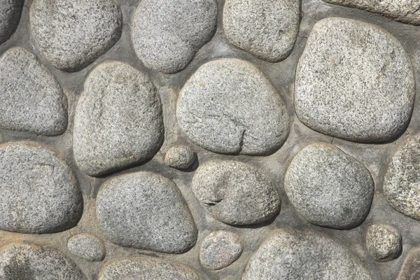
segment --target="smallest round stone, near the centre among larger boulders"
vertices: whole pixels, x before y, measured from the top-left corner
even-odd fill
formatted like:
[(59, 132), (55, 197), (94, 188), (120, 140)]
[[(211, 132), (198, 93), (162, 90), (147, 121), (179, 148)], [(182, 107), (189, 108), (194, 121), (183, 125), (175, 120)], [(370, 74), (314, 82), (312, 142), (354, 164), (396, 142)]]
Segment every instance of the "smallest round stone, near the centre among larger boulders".
[(165, 155), (165, 163), (176, 169), (187, 169), (197, 160), (197, 154), (188, 146), (173, 146)]

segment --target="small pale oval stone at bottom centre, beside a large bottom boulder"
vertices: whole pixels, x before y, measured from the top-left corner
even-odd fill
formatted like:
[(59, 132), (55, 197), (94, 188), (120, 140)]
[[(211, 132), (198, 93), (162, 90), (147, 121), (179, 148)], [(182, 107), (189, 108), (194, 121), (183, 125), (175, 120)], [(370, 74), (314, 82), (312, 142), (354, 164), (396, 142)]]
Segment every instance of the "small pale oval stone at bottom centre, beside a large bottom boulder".
[(241, 237), (233, 232), (211, 232), (202, 241), (200, 262), (207, 269), (222, 269), (235, 262), (243, 250)]

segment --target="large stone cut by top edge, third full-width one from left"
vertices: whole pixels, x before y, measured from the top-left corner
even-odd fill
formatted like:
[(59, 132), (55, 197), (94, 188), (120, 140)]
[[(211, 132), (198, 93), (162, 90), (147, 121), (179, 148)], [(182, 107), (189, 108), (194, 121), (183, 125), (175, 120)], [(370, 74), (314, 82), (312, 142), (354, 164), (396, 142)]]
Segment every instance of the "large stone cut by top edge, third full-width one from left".
[(238, 48), (279, 62), (290, 54), (300, 24), (300, 0), (228, 0), (223, 29)]

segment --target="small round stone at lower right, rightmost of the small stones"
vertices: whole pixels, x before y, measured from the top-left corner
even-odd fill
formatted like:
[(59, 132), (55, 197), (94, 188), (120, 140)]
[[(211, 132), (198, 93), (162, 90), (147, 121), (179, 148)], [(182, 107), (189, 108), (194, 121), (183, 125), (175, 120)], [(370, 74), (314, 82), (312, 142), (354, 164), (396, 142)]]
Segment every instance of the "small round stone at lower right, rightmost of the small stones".
[(378, 262), (394, 260), (402, 250), (400, 231), (392, 225), (371, 225), (366, 232), (366, 248)]

